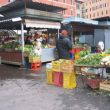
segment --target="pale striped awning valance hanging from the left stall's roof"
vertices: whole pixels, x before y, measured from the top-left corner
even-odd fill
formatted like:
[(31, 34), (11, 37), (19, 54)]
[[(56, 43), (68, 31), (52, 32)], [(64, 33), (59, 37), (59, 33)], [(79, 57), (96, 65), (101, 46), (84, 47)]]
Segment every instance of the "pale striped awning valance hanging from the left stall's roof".
[(30, 20), (25, 19), (26, 27), (29, 28), (50, 28), (50, 29), (60, 29), (61, 24), (59, 22), (49, 22), (41, 20)]

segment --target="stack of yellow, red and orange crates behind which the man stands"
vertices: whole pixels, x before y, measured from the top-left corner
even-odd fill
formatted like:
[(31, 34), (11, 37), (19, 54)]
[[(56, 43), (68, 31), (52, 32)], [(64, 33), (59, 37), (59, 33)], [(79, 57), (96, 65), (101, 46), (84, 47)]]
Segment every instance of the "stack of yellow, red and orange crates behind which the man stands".
[[(47, 72), (47, 83), (54, 84), (66, 89), (73, 89), (76, 87), (76, 76), (72, 60), (60, 59), (52, 61), (52, 69)], [(52, 83), (50, 83), (50, 81)]]

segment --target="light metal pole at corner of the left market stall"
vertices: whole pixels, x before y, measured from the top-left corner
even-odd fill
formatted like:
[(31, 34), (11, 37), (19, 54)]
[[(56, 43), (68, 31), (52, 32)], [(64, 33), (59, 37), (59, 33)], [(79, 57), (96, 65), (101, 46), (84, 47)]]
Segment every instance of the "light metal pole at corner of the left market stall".
[(24, 24), (21, 22), (22, 64), (24, 65)]

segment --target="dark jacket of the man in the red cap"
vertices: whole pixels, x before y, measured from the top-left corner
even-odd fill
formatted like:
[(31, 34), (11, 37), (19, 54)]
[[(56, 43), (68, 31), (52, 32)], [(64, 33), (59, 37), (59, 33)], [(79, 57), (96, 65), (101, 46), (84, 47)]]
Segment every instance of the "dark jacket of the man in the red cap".
[(70, 59), (69, 50), (72, 48), (72, 43), (69, 38), (60, 36), (56, 42), (56, 48), (60, 59)]

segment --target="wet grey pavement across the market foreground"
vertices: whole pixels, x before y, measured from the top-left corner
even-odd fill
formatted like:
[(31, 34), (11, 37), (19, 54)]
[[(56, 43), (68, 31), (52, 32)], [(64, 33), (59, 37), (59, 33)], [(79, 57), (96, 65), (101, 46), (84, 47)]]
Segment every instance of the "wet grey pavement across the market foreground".
[(0, 65), (0, 110), (110, 110), (110, 96), (78, 87), (67, 90), (46, 84), (40, 72)]

